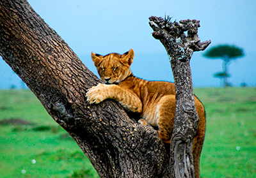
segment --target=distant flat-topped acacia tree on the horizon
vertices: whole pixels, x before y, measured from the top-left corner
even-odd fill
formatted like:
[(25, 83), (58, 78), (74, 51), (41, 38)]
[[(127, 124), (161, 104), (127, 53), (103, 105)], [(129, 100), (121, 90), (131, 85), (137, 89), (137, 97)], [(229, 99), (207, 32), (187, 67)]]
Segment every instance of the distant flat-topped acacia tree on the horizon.
[(227, 87), (230, 85), (228, 83), (228, 77), (230, 77), (230, 74), (228, 73), (228, 64), (238, 57), (243, 57), (244, 52), (242, 48), (234, 45), (218, 45), (207, 50), (203, 56), (211, 59), (216, 58), (223, 60), (223, 71), (214, 73), (214, 77), (223, 78), (223, 85), (224, 87)]

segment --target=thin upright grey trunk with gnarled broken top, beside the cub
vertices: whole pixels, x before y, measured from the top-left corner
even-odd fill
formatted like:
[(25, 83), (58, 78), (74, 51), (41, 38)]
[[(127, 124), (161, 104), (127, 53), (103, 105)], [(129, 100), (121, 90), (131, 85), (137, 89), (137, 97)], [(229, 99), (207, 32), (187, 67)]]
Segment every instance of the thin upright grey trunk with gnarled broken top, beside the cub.
[[(199, 21), (170, 22), (170, 17), (150, 17), (152, 35), (163, 43), (172, 66), (176, 91), (176, 109), (171, 139), (171, 177), (195, 177), (192, 145), (198, 126), (191, 68), (189, 61), (194, 51), (204, 50), (211, 41), (200, 42)], [(184, 32), (188, 31), (186, 35)]]

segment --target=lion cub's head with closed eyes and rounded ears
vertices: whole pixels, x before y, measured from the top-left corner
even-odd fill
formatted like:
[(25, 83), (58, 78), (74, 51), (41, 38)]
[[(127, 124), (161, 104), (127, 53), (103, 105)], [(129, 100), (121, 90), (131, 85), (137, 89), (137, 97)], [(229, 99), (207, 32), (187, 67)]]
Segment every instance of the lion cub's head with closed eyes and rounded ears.
[(134, 57), (134, 51), (130, 49), (124, 54), (111, 53), (101, 56), (92, 52), (92, 61), (96, 66), (101, 80), (105, 84), (122, 82), (131, 75), (130, 66)]

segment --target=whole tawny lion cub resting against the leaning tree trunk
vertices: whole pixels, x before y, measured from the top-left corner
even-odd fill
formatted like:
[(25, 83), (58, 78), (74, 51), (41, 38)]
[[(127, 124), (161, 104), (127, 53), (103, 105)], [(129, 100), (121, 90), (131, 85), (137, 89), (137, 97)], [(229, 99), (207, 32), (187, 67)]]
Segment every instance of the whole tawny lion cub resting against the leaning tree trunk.
[[(100, 103), (108, 98), (118, 101), (127, 111), (140, 114), (138, 122), (158, 128), (159, 137), (170, 144), (175, 114), (175, 85), (171, 82), (147, 81), (134, 77), (130, 70), (134, 57), (131, 49), (125, 54), (111, 53), (101, 56), (92, 52), (92, 60), (105, 84), (92, 87), (86, 94), (90, 103)], [(205, 135), (205, 110), (195, 96), (199, 123), (193, 144), (196, 177)]]

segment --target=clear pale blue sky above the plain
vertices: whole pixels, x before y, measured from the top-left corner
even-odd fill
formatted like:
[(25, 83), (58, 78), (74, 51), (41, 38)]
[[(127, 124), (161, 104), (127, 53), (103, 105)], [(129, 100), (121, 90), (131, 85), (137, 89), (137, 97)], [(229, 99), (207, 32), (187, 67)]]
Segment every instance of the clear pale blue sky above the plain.
[[(123, 54), (133, 48), (131, 70), (146, 80), (173, 82), (166, 50), (152, 37), (148, 17), (170, 15), (173, 21), (200, 20), (201, 41), (211, 40), (209, 48), (220, 44), (243, 48), (245, 56), (228, 66), (234, 86), (256, 86), (256, 1), (238, 0), (29, 0), (33, 9), (65, 40), (83, 63), (97, 74), (91, 52)], [(207, 50), (206, 49), (206, 50)], [(205, 50), (205, 51), (206, 51)], [(205, 52), (204, 51), (204, 52)], [(195, 52), (191, 59), (195, 87), (220, 87), (214, 78), (222, 71), (221, 59), (207, 59)], [(21, 80), (0, 57), (0, 89), (22, 87)]]

